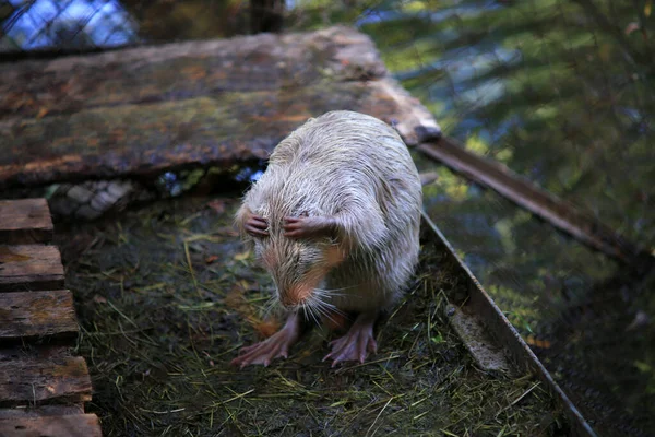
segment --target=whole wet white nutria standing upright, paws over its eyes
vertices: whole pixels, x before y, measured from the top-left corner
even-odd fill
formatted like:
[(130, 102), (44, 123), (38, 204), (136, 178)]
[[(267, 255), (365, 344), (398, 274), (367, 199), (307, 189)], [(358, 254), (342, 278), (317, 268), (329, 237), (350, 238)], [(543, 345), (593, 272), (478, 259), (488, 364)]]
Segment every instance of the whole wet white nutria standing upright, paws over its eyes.
[(234, 364), (287, 356), (300, 316), (355, 312), (332, 342), (333, 365), (376, 351), (373, 323), (402, 295), (418, 260), (421, 184), (407, 146), (390, 126), (353, 111), (310, 119), (273, 151), (236, 214), (269, 270), (289, 318)]

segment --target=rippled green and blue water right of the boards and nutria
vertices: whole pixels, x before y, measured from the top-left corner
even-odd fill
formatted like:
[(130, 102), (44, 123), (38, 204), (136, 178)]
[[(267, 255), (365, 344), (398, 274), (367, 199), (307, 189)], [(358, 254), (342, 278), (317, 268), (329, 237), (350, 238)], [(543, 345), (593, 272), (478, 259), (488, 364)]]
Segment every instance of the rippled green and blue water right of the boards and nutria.
[[(650, 43), (622, 27), (638, 3), (409, 3), (359, 25), (448, 135), (655, 246)], [(627, 331), (655, 317), (652, 275), (415, 157), (440, 176), (430, 216), (596, 429), (655, 432), (655, 330)]]

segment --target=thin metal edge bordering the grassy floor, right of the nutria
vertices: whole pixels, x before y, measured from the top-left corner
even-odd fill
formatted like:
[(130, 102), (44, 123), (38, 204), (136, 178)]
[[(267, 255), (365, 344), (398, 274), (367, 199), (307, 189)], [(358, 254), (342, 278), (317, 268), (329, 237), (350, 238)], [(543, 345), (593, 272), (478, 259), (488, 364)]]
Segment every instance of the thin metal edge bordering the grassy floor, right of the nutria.
[(432, 232), (433, 241), (442, 249), (449, 260), (454, 262), (461, 270), (462, 276), (468, 282), (468, 296), (462, 303), (467, 309), (479, 317), (485, 328), (491, 334), (491, 338), (502, 345), (509, 352), (510, 362), (516, 369), (534, 373), (550, 390), (562, 406), (567, 416), (571, 421), (571, 427), (576, 436), (596, 437), (596, 433), (582, 416), (577, 408), (571, 402), (567, 393), (559, 387), (548, 373), (546, 367), (539, 362), (539, 358), (532, 352), (529, 346), (523, 341), (519, 332), (512, 327), (504, 317), (500, 308), (496, 306), (493, 299), (487, 294), (468, 267), (457, 257), (453, 247), (443, 236), (437, 225), (430, 217), (422, 212), (424, 224)]

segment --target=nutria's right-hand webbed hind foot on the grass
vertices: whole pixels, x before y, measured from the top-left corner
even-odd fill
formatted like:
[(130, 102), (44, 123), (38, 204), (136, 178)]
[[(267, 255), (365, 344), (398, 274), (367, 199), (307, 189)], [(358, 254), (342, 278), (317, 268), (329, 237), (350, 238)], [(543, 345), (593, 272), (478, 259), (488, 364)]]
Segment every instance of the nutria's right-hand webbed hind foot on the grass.
[(323, 361), (332, 358), (332, 367), (348, 361), (364, 364), (369, 352), (378, 352), (378, 344), (373, 338), (376, 319), (377, 315), (360, 314), (344, 336), (330, 343), (332, 352), (325, 355)]

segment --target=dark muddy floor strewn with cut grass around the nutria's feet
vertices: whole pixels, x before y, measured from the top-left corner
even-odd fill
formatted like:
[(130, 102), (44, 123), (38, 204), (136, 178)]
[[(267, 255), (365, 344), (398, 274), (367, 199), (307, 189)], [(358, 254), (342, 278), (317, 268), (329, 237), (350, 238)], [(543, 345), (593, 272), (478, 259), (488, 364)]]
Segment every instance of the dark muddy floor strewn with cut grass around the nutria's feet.
[(529, 376), (476, 368), (444, 315), (457, 275), (426, 244), (406, 298), (364, 365), (321, 362), (314, 329), (288, 359), (229, 366), (270, 335), (273, 285), (231, 228), (236, 201), (162, 202), (59, 229), (105, 436), (564, 435)]

